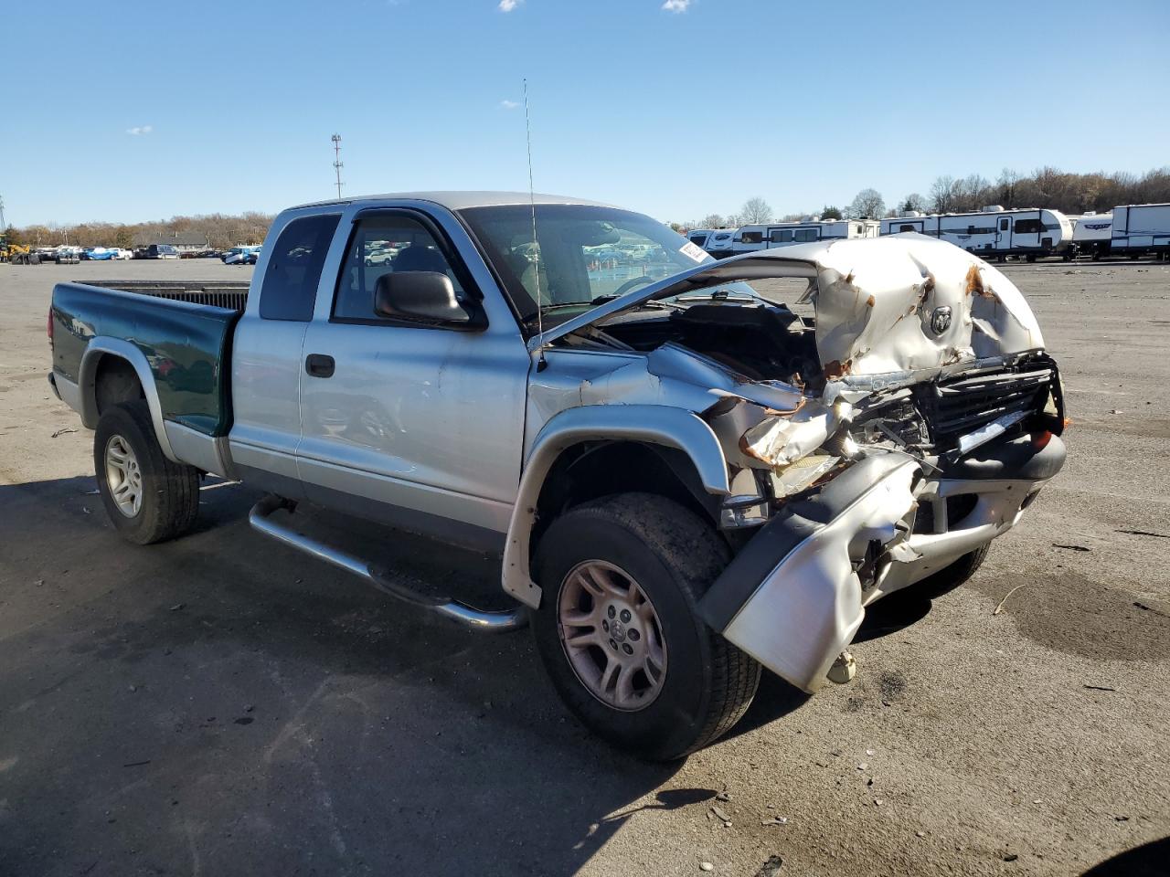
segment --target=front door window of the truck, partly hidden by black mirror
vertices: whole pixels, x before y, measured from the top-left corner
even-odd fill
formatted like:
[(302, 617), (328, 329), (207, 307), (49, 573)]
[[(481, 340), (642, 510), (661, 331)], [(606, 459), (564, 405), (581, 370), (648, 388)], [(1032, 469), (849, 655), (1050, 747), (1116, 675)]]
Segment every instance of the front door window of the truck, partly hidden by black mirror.
[(379, 277), (394, 271), (446, 274), (455, 288), (455, 298), (467, 301), (459, 275), (431, 232), (410, 216), (384, 214), (362, 220), (350, 239), (337, 281), (333, 317), (385, 320), (373, 310), (373, 290)]

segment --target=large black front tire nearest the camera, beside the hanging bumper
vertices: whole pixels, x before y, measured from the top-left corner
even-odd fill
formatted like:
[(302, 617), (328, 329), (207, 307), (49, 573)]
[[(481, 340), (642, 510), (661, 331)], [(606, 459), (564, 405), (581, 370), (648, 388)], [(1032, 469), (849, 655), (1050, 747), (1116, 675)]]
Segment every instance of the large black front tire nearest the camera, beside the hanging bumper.
[[(543, 594), (541, 608), (532, 612), (532, 635), (557, 693), (593, 733), (642, 758), (668, 761), (718, 739), (748, 710), (759, 684), (759, 664), (708, 628), (696, 612), (698, 599), (728, 559), (727, 545), (709, 525), (651, 493), (605, 497), (570, 510), (549, 526), (536, 555)], [(663, 663), (645, 704), (619, 709), (603, 700), (574, 669), (571, 647), (563, 642), (562, 598), (571, 596), (577, 571), (596, 565), (617, 569), (619, 582), (621, 575), (636, 582), (651, 606), (654, 622), (645, 624), (641, 647), (648, 650), (652, 640), (659, 642)], [(627, 593), (633, 591), (631, 586)], [(586, 605), (599, 613), (603, 626), (608, 624), (605, 610), (596, 608), (600, 601), (587, 596)], [(639, 617), (618, 633), (617, 627), (600, 631), (593, 626), (600, 641), (589, 647), (586, 658), (612, 661), (606, 648), (618, 654), (614, 636), (628, 636), (622, 649), (638, 647), (638, 637), (628, 633), (645, 622), (638, 612)], [(620, 613), (618, 620), (628, 616)], [(577, 661), (581, 660), (578, 652)], [(638, 661), (638, 652), (631, 661)], [(648, 668), (633, 671), (633, 678), (655, 685)], [(620, 679), (614, 692), (619, 689)]]

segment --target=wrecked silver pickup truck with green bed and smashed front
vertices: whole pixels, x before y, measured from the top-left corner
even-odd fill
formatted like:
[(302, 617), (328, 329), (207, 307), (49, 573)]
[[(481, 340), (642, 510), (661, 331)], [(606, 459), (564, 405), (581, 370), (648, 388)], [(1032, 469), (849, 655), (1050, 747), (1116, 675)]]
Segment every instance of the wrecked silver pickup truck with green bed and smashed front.
[[(730, 728), (762, 668), (847, 682), (866, 607), (965, 580), (1065, 461), (1024, 296), (915, 234), (715, 261), (576, 199), (329, 201), (276, 217), (248, 288), (61, 283), (49, 334), (123, 537), (181, 536), (206, 474), (255, 485), (290, 548), (530, 622), (571, 711), (653, 759)], [(321, 506), (495, 552), (507, 608), (303, 532)]]

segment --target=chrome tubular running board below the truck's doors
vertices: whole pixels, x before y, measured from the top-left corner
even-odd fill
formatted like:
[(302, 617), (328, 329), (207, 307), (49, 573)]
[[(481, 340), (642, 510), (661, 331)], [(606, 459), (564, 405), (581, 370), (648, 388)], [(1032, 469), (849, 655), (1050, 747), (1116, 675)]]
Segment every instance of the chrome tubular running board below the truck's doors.
[(353, 573), (384, 594), (429, 609), (452, 621), (457, 621), (472, 630), (504, 633), (524, 627), (528, 619), (523, 607), (502, 612), (482, 612), (449, 598), (429, 598), (399, 585), (388, 574), (372, 567), (360, 558), (332, 548), (308, 536), (302, 536), (295, 530), (277, 524), (271, 519), (274, 512), (282, 509), (292, 511), (295, 506), (295, 503), (281, 497), (267, 496), (252, 506), (252, 511), (248, 512), (248, 523), (255, 530), (259, 530), (264, 536), (270, 536), (276, 541), (303, 551), (305, 554), (315, 557), (318, 560), (324, 560), (326, 564), (332, 564), (345, 572)]

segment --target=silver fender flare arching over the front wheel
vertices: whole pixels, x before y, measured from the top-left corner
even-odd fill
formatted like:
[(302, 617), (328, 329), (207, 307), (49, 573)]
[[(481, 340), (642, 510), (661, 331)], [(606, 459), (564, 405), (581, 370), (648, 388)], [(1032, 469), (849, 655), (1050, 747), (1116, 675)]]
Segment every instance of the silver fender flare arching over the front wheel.
[(562, 451), (599, 438), (676, 448), (690, 457), (704, 490), (722, 496), (731, 492), (720, 440), (689, 410), (665, 405), (589, 405), (557, 414), (541, 429), (524, 461), (504, 545), (503, 589), (534, 609), (541, 605), (541, 588), (532, 581), (529, 554), (544, 479)]

